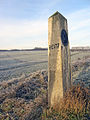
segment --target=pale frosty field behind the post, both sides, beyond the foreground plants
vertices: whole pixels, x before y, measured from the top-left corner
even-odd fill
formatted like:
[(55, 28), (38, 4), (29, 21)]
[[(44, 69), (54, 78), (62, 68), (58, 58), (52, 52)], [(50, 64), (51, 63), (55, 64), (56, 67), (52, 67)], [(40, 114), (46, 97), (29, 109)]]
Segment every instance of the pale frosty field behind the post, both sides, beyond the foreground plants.
[[(89, 61), (90, 51), (71, 52), (72, 69), (75, 69), (72, 78), (75, 84), (82, 81), (90, 86)], [(0, 81), (26, 77), (42, 69), (48, 69), (47, 50), (0, 52)]]

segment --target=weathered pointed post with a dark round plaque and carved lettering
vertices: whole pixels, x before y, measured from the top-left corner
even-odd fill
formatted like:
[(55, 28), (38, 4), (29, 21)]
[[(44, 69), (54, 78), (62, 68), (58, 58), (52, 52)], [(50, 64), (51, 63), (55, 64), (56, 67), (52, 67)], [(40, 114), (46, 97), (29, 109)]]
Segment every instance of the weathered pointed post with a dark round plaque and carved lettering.
[(71, 86), (67, 19), (59, 12), (48, 19), (48, 103), (60, 102)]

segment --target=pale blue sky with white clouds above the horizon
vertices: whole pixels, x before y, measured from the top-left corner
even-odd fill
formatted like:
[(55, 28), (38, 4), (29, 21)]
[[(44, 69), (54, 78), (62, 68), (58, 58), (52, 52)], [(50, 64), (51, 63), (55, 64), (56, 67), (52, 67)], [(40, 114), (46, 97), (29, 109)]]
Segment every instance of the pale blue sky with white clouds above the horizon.
[(48, 46), (48, 17), (68, 20), (70, 46), (90, 46), (90, 0), (0, 0), (0, 49)]

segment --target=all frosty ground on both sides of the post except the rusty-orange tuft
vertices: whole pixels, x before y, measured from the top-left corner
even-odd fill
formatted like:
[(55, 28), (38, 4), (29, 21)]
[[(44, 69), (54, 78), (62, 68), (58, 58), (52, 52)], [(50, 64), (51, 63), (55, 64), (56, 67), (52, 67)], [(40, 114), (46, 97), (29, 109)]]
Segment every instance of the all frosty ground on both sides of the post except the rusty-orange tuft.
[[(72, 83), (90, 88), (90, 52), (71, 52), (71, 63)], [(47, 51), (0, 52), (0, 120), (41, 120), (47, 106), (47, 68)]]

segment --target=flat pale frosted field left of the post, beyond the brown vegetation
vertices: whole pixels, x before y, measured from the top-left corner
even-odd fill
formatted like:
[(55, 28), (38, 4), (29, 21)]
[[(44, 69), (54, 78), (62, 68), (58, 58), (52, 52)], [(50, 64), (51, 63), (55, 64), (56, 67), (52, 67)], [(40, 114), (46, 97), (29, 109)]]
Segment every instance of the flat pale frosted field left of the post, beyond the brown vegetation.
[(47, 69), (47, 51), (0, 52), (0, 81)]

